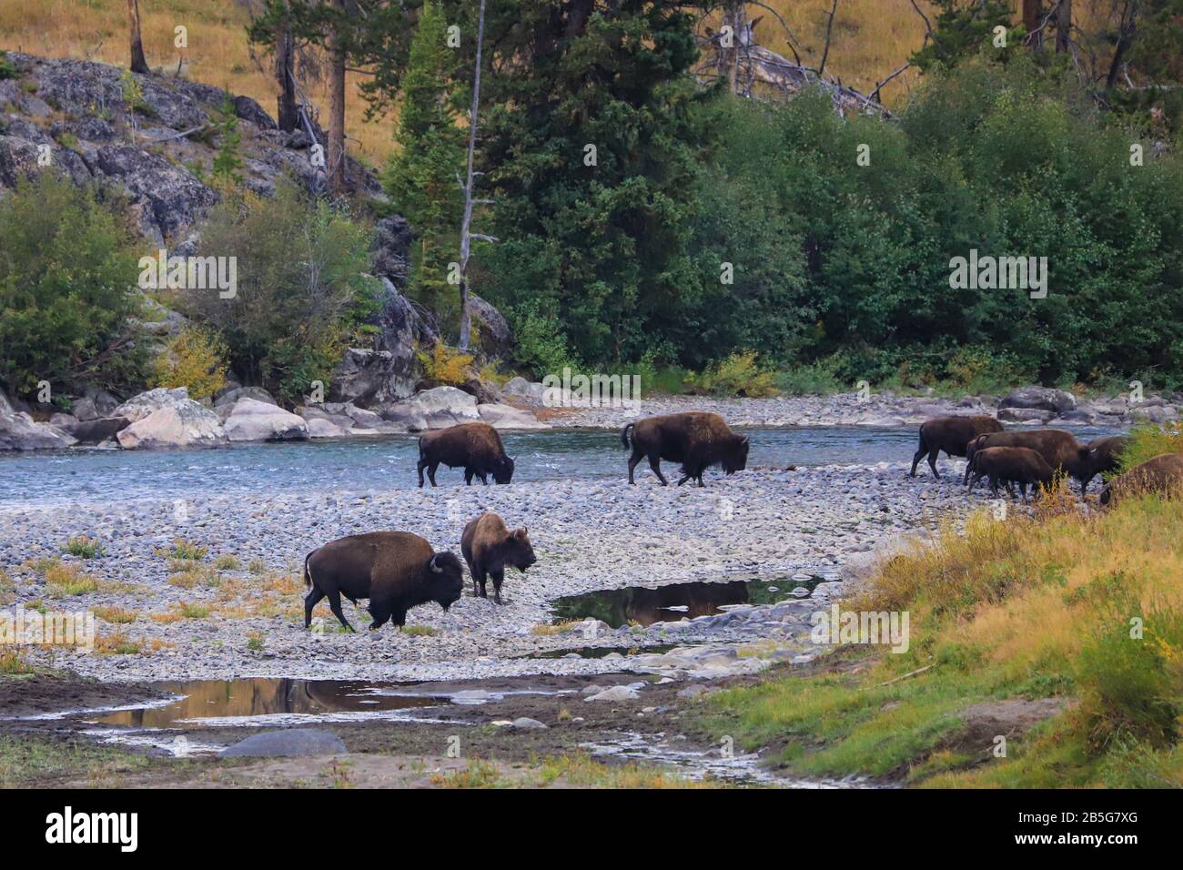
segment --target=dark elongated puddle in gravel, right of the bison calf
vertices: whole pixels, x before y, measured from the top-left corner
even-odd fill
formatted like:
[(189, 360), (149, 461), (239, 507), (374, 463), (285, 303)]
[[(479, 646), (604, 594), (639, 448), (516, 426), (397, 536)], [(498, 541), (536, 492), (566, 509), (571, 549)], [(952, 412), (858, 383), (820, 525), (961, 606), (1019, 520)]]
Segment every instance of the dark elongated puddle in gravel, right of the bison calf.
[[(586, 592), (555, 599), (555, 623), (580, 619), (600, 619), (613, 629), (636, 623), (652, 625), (677, 621), (683, 617), (713, 616), (731, 605), (776, 604), (789, 598), (804, 598), (806, 593), (825, 582), (825, 578), (808, 579), (781, 576), (763, 580), (730, 580), (718, 582), (667, 584), (665, 586), (625, 586), (619, 589)], [(803, 589), (803, 592), (794, 592)]]

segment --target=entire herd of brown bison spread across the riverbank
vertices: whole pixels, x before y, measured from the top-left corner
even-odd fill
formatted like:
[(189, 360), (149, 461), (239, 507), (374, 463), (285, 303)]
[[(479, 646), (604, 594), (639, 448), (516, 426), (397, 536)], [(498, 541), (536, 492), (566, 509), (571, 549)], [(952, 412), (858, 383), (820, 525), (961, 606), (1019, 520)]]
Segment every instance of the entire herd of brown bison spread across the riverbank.
[[(628, 458), (628, 482), (644, 458), (661, 485), (668, 485), (661, 473), (661, 460), (681, 464), (681, 479), (703, 485), (703, 472), (718, 465), (728, 475), (743, 471), (748, 464), (749, 437), (732, 432), (722, 417), (705, 412), (686, 412), (649, 417), (629, 423), (620, 432)], [(1047, 488), (1058, 475), (1080, 482), (1081, 494), (1098, 475), (1117, 470), (1129, 438), (1116, 436), (1080, 444), (1069, 432), (1054, 428), (1004, 432), (993, 417), (939, 417), (920, 426), (919, 445), (912, 456), (911, 476), (920, 459), (939, 479), (937, 457), (967, 458), (963, 484), (971, 491), (982, 478), (998, 495), (998, 485), (1017, 484), (1023, 501), (1027, 488)], [(513, 459), (497, 431), (485, 423), (466, 423), (419, 439), (419, 485), (424, 471), (435, 486), (440, 465), (463, 468), (464, 482), (474, 477), (483, 484), (492, 475), (496, 483), (510, 483)], [(1134, 492), (1175, 492), (1183, 486), (1183, 455), (1165, 453), (1138, 465), (1110, 481), (1101, 492), (1101, 504)], [(470, 522), (460, 539), (464, 561), (472, 575), (473, 595), (487, 597), (487, 581), (493, 580), (493, 600), (502, 604), (502, 584), (506, 568), (525, 572), (537, 561), (524, 528), (510, 530), (497, 514), (485, 513)], [(342, 626), (353, 631), (341, 610), (342, 597), (355, 605), (369, 599), (373, 617), (370, 629), (387, 620), (400, 629), (407, 611), (435, 601), (447, 610), (460, 598), (464, 572), (452, 553), (437, 553), (432, 544), (409, 531), (371, 531), (342, 537), (312, 550), (304, 559), (304, 625), (312, 619), (312, 608), (322, 599)]]

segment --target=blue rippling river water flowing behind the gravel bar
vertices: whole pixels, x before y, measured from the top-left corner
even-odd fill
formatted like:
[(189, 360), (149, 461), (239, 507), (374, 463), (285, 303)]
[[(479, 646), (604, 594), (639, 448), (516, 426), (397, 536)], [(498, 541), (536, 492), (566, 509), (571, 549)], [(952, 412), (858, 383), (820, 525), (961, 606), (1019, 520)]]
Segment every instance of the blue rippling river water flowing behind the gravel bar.
[[(751, 436), (749, 468), (856, 465), (909, 462), (914, 427), (810, 426), (741, 430)], [(1108, 430), (1081, 428), (1082, 440)], [(558, 430), (506, 433), (517, 463), (513, 482), (620, 478), (628, 452), (614, 431)], [(128, 497), (324, 492), (408, 489), (418, 485), (416, 436), (388, 436), (277, 444), (239, 444), (216, 450), (64, 450), (0, 452), (0, 505), (88, 503)], [(677, 469), (664, 463), (666, 476)], [(718, 470), (707, 476), (720, 473)], [(652, 482), (646, 463), (638, 483)], [(441, 486), (464, 485), (460, 469), (441, 468)]]

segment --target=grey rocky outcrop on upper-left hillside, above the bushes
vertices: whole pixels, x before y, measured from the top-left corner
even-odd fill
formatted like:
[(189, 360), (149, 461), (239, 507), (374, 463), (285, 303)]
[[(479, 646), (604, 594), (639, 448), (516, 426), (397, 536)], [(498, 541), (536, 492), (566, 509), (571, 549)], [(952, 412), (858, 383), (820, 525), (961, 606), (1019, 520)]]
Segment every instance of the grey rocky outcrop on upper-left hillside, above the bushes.
[[(17, 75), (0, 80), (0, 195), (22, 176), (53, 166), (78, 183), (122, 187), (144, 236), (180, 244), (218, 201), (206, 183), (218, 148), (213, 121), (225, 91), (167, 76), (140, 76), (85, 60), (8, 53)], [(284, 133), (250, 97), (233, 97), (244, 183), (271, 195), (289, 173), (321, 191), (304, 130)], [(312, 124), (324, 144), (324, 131)], [(375, 173), (349, 160), (354, 193), (381, 198)]]

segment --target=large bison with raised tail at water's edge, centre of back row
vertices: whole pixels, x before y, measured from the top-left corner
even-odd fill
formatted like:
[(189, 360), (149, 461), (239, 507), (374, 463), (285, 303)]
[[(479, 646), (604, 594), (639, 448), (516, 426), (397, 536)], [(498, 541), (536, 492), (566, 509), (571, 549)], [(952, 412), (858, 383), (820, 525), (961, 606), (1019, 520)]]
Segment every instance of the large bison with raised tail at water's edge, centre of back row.
[(620, 430), (620, 440), (633, 449), (628, 459), (629, 483), (635, 483), (633, 469), (642, 457), (648, 457), (649, 468), (662, 486), (668, 481), (661, 473), (661, 459), (681, 463), (679, 486), (690, 479), (702, 486), (703, 472), (711, 465), (722, 465), (729, 475), (748, 466), (748, 436), (736, 434), (722, 417), (703, 411), (647, 417), (629, 423)]

